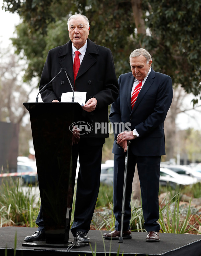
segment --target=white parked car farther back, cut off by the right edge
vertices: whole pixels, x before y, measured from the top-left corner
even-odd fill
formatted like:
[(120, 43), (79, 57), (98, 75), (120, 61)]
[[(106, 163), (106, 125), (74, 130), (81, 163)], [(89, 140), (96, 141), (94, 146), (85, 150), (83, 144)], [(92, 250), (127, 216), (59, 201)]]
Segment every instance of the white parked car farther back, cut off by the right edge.
[[(201, 181), (201, 173), (196, 172), (192, 167), (190, 166), (184, 166), (184, 165), (167, 165), (161, 163), (161, 167), (168, 168), (178, 174), (183, 174), (187, 176), (191, 176), (194, 178), (197, 178), (198, 181)], [(200, 167), (201, 169), (201, 167)]]

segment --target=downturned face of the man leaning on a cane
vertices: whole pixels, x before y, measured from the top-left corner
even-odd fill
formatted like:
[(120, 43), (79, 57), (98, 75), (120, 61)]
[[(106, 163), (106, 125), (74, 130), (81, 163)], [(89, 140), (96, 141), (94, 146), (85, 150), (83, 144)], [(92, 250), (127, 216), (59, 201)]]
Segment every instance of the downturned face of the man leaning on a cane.
[(147, 60), (143, 55), (130, 58), (130, 65), (133, 76), (137, 80), (144, 79), (149, 72), (151, 63), (152, 61), (150, 60), (149, 63), (147, 64)]

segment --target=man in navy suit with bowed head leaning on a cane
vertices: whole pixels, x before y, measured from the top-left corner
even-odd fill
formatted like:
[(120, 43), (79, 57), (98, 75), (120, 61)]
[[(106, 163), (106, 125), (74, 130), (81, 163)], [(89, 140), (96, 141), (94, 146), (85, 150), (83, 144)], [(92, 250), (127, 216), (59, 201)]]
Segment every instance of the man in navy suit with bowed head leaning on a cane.
[[(130, 229), (132, 181), (137, 164), (144, 227), (147, 242), (159, 242), (159, 177), (160, 158), (165, 154), (164, 120), (170, 108), (173, 90), (171, 78), (151, 68), (151, 55), (145, 49), (136, 49), (130, 55), (131, 71), (119, 77), (119, 97), (112, 103), (109, 119), (113, 123), (114, 153), (114, 214), (115, 230), (103, 235), (119, 239), (121, 229), (122, 194), (125, 152), (128, 141), (128, 169), (125, 194), (123, 238), (132, 238)], [(130, 124), (127, 131), (122, 125)]]

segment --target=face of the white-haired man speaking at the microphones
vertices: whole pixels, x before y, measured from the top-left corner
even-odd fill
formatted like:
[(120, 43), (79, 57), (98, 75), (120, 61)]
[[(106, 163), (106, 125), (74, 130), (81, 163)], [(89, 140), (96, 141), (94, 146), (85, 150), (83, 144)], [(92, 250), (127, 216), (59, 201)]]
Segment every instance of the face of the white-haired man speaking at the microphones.
[(73, 45), (80, 49), (85, 43), (89, 35), (90, 27), (83, 17), (77, 17), (69, 21), (68, 34)]

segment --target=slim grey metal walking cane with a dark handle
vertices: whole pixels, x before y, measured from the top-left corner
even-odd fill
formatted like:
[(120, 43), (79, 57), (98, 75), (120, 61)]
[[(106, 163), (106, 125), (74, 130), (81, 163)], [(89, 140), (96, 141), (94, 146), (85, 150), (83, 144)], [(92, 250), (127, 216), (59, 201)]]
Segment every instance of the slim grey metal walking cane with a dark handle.
[(127, 165), (128, 165), (128, 146), (131, 144), (130, 140), (128, 141), (126, 158), (125, 158), (125, 167), (124, 167), (124, 186), (123, 186), (123, 198), (122, 198), (122, 217), (121, 217), (121, 231), (118, 243), (123, 243), (123, 222), (124, 222), (124, 207), (125, 207), (125, 196), (126, 196), (126, 176), (127, 176)]

